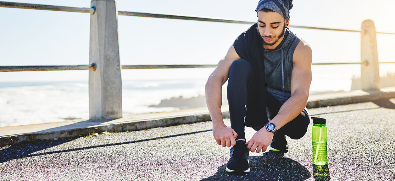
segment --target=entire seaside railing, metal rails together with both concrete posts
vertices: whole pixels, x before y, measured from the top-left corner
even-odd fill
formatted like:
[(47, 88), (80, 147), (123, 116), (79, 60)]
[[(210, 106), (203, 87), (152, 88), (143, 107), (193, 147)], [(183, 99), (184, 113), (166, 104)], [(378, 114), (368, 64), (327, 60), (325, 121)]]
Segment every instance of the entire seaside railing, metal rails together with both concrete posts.
[[(214, 17), (196, 17), (185, 15), (168, 15), (156, 13), (141, 13), (131, 11), (117, 11), (115, 0), (98, 1), (91, 0), (91, 7), (68, 7), (68, 6), (52, 6), (43, 4), (27, 4), (17, 2), (0, 1), (0, 7), (22, 8), (22, 9), (40, 9), (49, 11), (68, 11), (79, 13), (90, 13), (90, 57), (89, 65), (35, 65), (35, 66), (0, 66), (0, 72), (15, 71), (59, 71), (59, 70), (92, 70), (89, 75), (89, 109), (90, 118), (109, 119), (122, 117), (122, 96), (120, 95), (120, 72), (119, 69), (168, 69), (168, 68), (202, 68), (216, 67), (216, 65), (119, 65), (119, 43), (118, 43), (118, 27), (117, 15), (134, 16), (134, 17), (153, 17), (164, 19), (181, 19), (193, 21), (209, 21), (209, 22), (227, 22), (237, 24), (253, 24), (253, 21), (243, 21), (235, 19), (219, 19)], [(99, 16), (99, 15), (100, 16)], [(365, 78), (369, 85), (366, 89), (377, 89), (378, 64), (379, 63), (395, 63), (395, 62), (378, 62), (376, 34), (389, 34), (389, 32), (376, 32), (372, 21), (364, 21), (361, 30), (345, 30), (335, 28), (321, 28), (310, 26), (289, 26), (291, 28), (304, 28), (313, 30), (330, 30), (340, 32), (358, 32), (361, 34), (361, 62), (341, 62), (341, 63), (312, 63), (312, 65), (361, 65), (361, 78)], [(104, 33), (106, 41), (98, 41), (98, 32)], [(96, 35), (96, 36), (95, 36)], [(109, 39), (109, 41), (107, 41)], [(101, 42), (111, 42), (111, 45), (104, 45)], [(100, 47), (100, 48), (99, 48)], [(110, 48), (111, 47), (111, 48)], [(108, 54), (113, 60), (104, 59), (102, 54)], [(98, 65), (100, 65), (98, 67)], [(95, 71), (96, 69), (105, 69), (106, 71)], [(366, 70), (365, 70), (366, 69)], [(107, 73), (107, 75), (105, 75)], [(369, 74), (374, 74), (370, 76)], [(370, 77), (369, 77), (370, 76)], [(366, 78), (368, 77), (368, 78)], [(380, 78), (380, 77), (378, 77)], [(114, 81), (105, 81), (111, 79)], [(111, 82), (111, 86), (107, 85)], [(111, 87), (108, 88), (108, 87)], [(104, 87), (107, 89), (103, 90)], [(99, 89), (99, 90), (96, 90)], [(92, 97), (92, 99), (91, 99)], [(106, 105), (105, 101), (111, 100), (113, 105)]]

